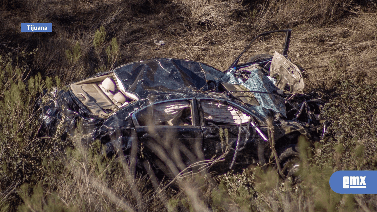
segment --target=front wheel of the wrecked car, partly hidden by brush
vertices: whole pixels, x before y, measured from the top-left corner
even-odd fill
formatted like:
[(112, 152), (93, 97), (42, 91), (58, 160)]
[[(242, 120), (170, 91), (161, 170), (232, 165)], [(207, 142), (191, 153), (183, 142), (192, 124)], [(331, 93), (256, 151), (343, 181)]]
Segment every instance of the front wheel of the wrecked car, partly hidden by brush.
[(300, 154), (296, 145), (286, 147), (279, 155), (279, 163), (282, 169), (282, 177), (291, 179), (294, 183), (300, 180)]

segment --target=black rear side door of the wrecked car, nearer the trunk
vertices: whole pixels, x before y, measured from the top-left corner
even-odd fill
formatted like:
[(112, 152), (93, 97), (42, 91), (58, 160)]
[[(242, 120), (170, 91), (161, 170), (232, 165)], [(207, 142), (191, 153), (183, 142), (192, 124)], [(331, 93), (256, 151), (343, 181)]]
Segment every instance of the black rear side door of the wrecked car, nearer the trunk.
[(142, 154), (169, 177), (204, 159), (195, 98), (153, 103), (132, 118)]

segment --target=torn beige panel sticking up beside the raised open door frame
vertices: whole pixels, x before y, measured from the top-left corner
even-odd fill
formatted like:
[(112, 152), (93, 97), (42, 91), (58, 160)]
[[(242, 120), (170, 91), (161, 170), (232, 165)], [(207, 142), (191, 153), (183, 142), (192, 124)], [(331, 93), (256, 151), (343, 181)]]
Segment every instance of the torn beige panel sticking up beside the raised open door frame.
[(303, 94), (304, 80), (300, 69), (283, 55), (275, 52), (271, 61), (270, 76), (277, 79), (276, 87), (288, 94)]

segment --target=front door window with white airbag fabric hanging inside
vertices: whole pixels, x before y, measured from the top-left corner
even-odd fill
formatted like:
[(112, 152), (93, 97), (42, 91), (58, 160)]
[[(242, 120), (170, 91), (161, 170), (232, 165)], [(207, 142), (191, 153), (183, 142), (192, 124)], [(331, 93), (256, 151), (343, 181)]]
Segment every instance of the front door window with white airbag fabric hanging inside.
[(231, 105), (218, 101), (201, 100), (205, 126), (248, 123), (250, 116)]

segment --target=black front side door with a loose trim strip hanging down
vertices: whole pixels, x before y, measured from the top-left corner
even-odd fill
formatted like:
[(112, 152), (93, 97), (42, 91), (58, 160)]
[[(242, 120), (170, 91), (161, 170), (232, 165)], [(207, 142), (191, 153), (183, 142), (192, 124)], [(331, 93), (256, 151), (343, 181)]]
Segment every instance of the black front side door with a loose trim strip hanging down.
[(197, 101), (203, 131), (204, 157), (206, 159), (221, 157), (228, 146), (230, 151), (225, 156), (227, 162), (222, 166), (229, 165), (234, 156), (241, 123), (237, 164), (254, 163), (252, 155), (257, 151), (254, 141), (258, 137), (255, 129), (250, 126), (250, 121), (254, 121), (253, 117), (226, 101), (221, 102), (211, 98), (198, 98)]

